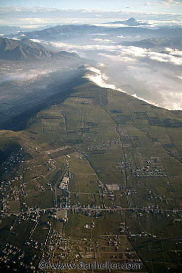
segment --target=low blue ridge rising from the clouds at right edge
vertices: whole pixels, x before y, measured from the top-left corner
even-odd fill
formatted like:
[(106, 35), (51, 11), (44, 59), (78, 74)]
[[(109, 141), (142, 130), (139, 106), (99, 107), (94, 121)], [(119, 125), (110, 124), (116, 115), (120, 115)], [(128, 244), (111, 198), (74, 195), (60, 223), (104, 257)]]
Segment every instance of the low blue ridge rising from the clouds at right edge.
[(182, 50), (182, 35), (181, 37), (170, 38), (168, 36), (163, 38), (151, 38), (151, 39), (144, 39), (141, 41), (135, 42), (124, 42), (122, 43), (126, 46), (135, 46), (135, 47), (142, 47), (142, 48), (152, 48), (152, 49), (159, 49), (159, 48), (173, 48)]

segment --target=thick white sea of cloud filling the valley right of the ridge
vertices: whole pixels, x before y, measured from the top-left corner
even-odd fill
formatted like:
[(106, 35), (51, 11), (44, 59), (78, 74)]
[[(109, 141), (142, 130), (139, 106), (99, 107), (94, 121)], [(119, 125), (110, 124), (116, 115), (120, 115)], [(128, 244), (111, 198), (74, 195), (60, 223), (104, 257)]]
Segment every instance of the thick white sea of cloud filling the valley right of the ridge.
[(102, 87), (125, 91), (170, 110), (182, 110), (182, 51), (166, 48), (156, 52), (104, 40), (91, 39), (90, 44), (46, 44), (104, 64), (94, 71), (91, 68), (95, 74), (88, 75)]

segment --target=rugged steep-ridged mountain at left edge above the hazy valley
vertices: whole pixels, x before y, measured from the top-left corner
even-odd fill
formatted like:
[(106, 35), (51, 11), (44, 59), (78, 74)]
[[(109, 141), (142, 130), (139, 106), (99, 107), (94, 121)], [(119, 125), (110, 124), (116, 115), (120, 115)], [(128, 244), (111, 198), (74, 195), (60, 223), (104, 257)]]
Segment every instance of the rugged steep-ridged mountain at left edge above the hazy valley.
[(52, 52), (39, 43), (24, 38), (20, 41), (0, 37), (0, 59), (34, 62), (47, 59), (76, 59), (79, 55), (66, 51)]

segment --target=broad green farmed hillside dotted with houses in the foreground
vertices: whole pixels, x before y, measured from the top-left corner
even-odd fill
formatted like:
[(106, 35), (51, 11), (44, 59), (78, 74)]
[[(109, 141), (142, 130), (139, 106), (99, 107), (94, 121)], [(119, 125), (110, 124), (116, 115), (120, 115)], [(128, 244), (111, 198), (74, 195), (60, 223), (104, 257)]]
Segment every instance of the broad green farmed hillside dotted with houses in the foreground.
[(1, 256), (180, 272), (182, 111), (80, 77), (33, 114), (0, 131)]

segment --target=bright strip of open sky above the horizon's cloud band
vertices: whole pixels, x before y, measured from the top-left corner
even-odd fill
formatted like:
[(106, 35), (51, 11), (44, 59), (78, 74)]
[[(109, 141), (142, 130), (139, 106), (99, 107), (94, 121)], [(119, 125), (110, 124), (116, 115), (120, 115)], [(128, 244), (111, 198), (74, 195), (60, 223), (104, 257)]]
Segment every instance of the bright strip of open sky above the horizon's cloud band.
[(126, 10), (134, 8), (138, 11), (163, 11), (170, 8), (172, 12), (179, 12), (182, 0), (1, 0), (1, 6), (26, 6), (26, 7), (54, 7), (54, 8), (89, 8), (104, 10)]

